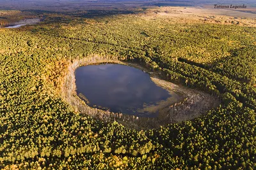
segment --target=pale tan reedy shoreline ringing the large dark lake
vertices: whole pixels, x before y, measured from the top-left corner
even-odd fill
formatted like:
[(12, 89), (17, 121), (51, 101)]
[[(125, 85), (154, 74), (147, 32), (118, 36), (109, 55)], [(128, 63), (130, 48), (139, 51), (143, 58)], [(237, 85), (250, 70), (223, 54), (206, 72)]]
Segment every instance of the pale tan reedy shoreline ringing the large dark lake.
[[(100, 110), (98, 108), (91, 108), (86, 104), (81, 97), (77, 96), (76, 92), (76, 77), (74, 75), (77, 67), (95, 65), (95, 64), (123, 64), (126, 66), (136, 67), (142, 71), (150, 73), (151, 80), (156, 85), (164, 89), (182, 94), (182, 99), (172, 104), (167, 104), (159, 111), (159, 116), (156, 118), (135, 117), (132, 115), (125, 115), (123, 113), (113, 113), (111, 111)], [(184, 120), (191, 120), (196, 117), (204, 115), (208, 110), (216, 108), (220, 101), (210, 94), (206, 94), (199, 90), (189, 89), (182, 85), (177, 85), (161, 79), (160, 71), (150, 72), (150, 69), (140, 66), (134, 62), (127, 62), (119, 60), (117, 57), (101, 57), (99, 55), (92, 55), (84, 59), (73, 60), (68, 68), (67, 74), (63, 78), (61, 87), (62, 99), (72, 107), (72, 109), (79, 114), (87, 115), (104, 122), (118, 122), (125, 127), (141, 130), (154, 129), (160, 125), (168, 125), (172, 123), (180, 123)], [(161, 105), (161, 104), (160, 104)], [(191, 107), (192, 105), (192, 107)], [(193, 109), (190, 109), (193, 108)], [(150, 109), (150, 108), (148, 108)]]

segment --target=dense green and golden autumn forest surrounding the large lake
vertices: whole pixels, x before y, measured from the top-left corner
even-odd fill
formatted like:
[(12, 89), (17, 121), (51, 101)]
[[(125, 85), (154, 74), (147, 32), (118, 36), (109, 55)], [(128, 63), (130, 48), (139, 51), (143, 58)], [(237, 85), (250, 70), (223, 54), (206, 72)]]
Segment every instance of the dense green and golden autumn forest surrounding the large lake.
[[(9, 12), (1, 23), (23, 16)], [(44, 21), (0, 28), (0, 169), (256, 169), (255, 27), (161, 8), (94, 12), (34, 11)], [(68, 66), (90, 56), (161, 71), (221, 103), (147, 130), (93, 118), (61, 95)]]

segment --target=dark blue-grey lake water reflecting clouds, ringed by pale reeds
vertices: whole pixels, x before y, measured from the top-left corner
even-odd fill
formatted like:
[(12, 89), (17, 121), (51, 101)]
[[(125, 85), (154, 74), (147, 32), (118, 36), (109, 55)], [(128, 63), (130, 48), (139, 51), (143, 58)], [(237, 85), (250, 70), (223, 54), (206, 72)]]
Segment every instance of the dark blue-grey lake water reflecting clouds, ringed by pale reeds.
[(116, 113), (156, 117), (157, 113), (138, 113), (138, 109), (171, 97), (167, 90), (150, 79), (149, 74), (122, 64), (82, 66), (75, 74), (77, 95), (83, 94), (89, 101), (86, 103), (95, 108), (100, 106)]

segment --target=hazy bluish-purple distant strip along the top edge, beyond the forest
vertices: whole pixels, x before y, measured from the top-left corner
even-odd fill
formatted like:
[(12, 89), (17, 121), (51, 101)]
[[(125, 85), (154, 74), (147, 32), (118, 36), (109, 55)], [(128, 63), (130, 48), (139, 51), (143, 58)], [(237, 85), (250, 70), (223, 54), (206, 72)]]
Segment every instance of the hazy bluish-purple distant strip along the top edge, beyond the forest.
[(203, 4), (233, 4), (256, 7), (256, 0), (0, 0), (0, 9), (17, 10), (76, 10), (93, 8), (129, 8), (136, 6), (173, 5), (202, 6)]

